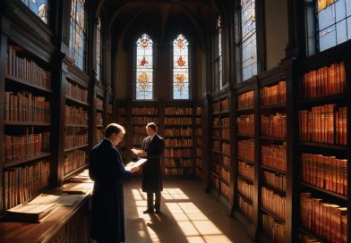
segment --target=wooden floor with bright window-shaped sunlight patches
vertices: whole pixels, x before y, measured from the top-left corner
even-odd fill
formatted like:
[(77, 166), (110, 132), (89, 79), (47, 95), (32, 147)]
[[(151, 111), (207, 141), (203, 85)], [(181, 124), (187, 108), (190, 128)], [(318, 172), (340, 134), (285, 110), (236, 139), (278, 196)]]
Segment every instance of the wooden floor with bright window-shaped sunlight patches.
[(197, 180), (164, 180), (162, 214), (142, 214), (146, 194), (141, 180), (124, 183), (127, 243), (253, 242), (244, 227)]

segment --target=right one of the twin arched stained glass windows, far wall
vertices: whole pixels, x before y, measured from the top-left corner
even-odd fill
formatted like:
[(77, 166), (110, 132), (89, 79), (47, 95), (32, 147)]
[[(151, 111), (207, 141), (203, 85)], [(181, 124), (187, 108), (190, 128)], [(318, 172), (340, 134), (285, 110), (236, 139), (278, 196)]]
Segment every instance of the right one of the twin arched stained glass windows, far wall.
[(189, 43), (182, 34), (173, 41), (173, 98), (189, 99)]

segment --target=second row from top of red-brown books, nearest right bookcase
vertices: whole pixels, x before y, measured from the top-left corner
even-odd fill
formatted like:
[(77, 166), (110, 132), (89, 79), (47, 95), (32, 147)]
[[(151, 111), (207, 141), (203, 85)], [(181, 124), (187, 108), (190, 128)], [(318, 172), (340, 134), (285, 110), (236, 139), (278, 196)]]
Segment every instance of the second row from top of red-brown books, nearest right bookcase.
[(347, 145), (347, 107), (335, 104), (299, 111), (302, 141)]

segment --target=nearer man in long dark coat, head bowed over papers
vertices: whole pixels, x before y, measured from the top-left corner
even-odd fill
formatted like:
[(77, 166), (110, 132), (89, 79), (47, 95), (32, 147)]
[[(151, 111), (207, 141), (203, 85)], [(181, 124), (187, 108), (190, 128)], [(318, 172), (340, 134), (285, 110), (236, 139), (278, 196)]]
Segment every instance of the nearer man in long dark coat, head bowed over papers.
[(94, 180), (91, 198), (91, 239), (98, 243), (124, 242), (124, 194), (122, 182), (131, 180), (116, 146), (124, 137), (124, 127), (111, 123), (105, 138), (90, 154), (89, 175)]

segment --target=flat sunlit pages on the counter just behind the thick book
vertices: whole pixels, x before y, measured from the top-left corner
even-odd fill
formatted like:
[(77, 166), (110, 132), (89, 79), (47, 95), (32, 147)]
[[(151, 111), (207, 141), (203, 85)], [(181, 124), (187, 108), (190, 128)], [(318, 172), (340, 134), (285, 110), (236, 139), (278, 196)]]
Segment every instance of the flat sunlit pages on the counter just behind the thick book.
[(35, 197), (28, 204), (40, 205), (40, 204), (57, 204), (57, 205), (73, 205), (77, 199), (78, 195), (50, 195), (50, 194), (40, 194)]

